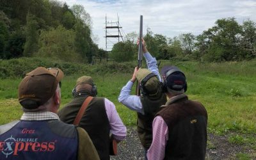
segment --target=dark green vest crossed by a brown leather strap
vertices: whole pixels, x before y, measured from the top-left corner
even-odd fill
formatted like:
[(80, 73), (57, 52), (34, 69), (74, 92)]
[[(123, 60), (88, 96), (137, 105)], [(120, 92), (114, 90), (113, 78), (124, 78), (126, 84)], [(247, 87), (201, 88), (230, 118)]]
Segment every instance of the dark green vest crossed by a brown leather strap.
[[(68, 103), (58, 112), (60, 120), (73, 124), (76, 115), (81, 108), (87, 95), (78, 95), (72, 102)], [(109, 131), (110, 125), (106, 113), (104, 98), (93, 97), (86, 108), (85, 114), (81, 118), (79, 127), (88, 132), (93, 145), (95, 146), (101, 160), (110, 159), (109, 157)]]

